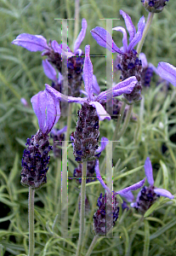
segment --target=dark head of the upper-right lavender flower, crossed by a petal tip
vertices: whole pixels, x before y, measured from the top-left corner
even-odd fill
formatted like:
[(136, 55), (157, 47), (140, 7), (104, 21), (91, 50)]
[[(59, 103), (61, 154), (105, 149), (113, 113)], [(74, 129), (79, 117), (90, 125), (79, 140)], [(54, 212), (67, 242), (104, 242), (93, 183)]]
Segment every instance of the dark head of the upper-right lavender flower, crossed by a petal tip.
[(120, 61), (122, 81), (128, 79), (129, 77), (135, 76), (138, 83), (134, 86), (133, 91), (130, 94), (124, 94), (123, 96), (128, 100), (128, 102), (136, 102), (141, 99), (141, 72), (142, 72), (142, 62), (138, 58), (138, 54), (135, 49), (131, 50), (129, 53), (121, 55)]

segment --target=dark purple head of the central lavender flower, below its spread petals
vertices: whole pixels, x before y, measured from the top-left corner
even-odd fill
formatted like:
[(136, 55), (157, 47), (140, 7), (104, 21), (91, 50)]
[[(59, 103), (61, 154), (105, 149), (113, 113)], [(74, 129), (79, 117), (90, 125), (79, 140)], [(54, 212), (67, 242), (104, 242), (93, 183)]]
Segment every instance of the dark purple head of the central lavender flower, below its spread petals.
[(77, 162), (95, 160), (95, 150), (99, 148), (99, 117), (96, 109), (84, 102), (77, 115), (77, 127), (73, 134), (75, 160)]

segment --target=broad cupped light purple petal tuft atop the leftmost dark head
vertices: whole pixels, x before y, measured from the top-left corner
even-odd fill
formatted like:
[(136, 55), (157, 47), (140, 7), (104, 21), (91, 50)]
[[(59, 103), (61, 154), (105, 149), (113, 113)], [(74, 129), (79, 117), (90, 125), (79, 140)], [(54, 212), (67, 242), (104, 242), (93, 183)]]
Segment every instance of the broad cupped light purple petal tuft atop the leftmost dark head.
[(43, 90), (31, 97), (31, 104), (37, 115), (41, 131), (43, 134), (48, 134), (60, 119), (60, 102), (47, 90)]

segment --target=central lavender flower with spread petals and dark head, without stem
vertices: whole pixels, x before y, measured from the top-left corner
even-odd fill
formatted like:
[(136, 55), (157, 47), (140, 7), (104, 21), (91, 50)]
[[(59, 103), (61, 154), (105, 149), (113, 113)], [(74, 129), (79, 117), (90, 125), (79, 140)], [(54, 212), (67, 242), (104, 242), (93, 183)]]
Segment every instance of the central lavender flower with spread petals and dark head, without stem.
[(82, 104), (82, 108), (78, 111), (77, 128), (72, 135), (74, 138), (73, 152), (78, 162), (94, 160), (96, 158), (95, 151), (98, 148), (99, 142), (99, 120), (111, 119), (110, 115), (106, 113), (105, 108), (102, 107), (101, 101), (106, 101), (108, 94), (116, 97), (123, 93), (131, 93), (137, 83), (137, 79), (133, 76), (114, 85), (111, 89), (101, 92), (98, 96), (94, 96), (93, 65), (90, 61), (89, 52), (90, 46), (87, 45), (85, 47), (83, 78), (88, 97), (64, 96), (48, 84), (45, 84), (46, 90), (61, 102), (77, 102)]

